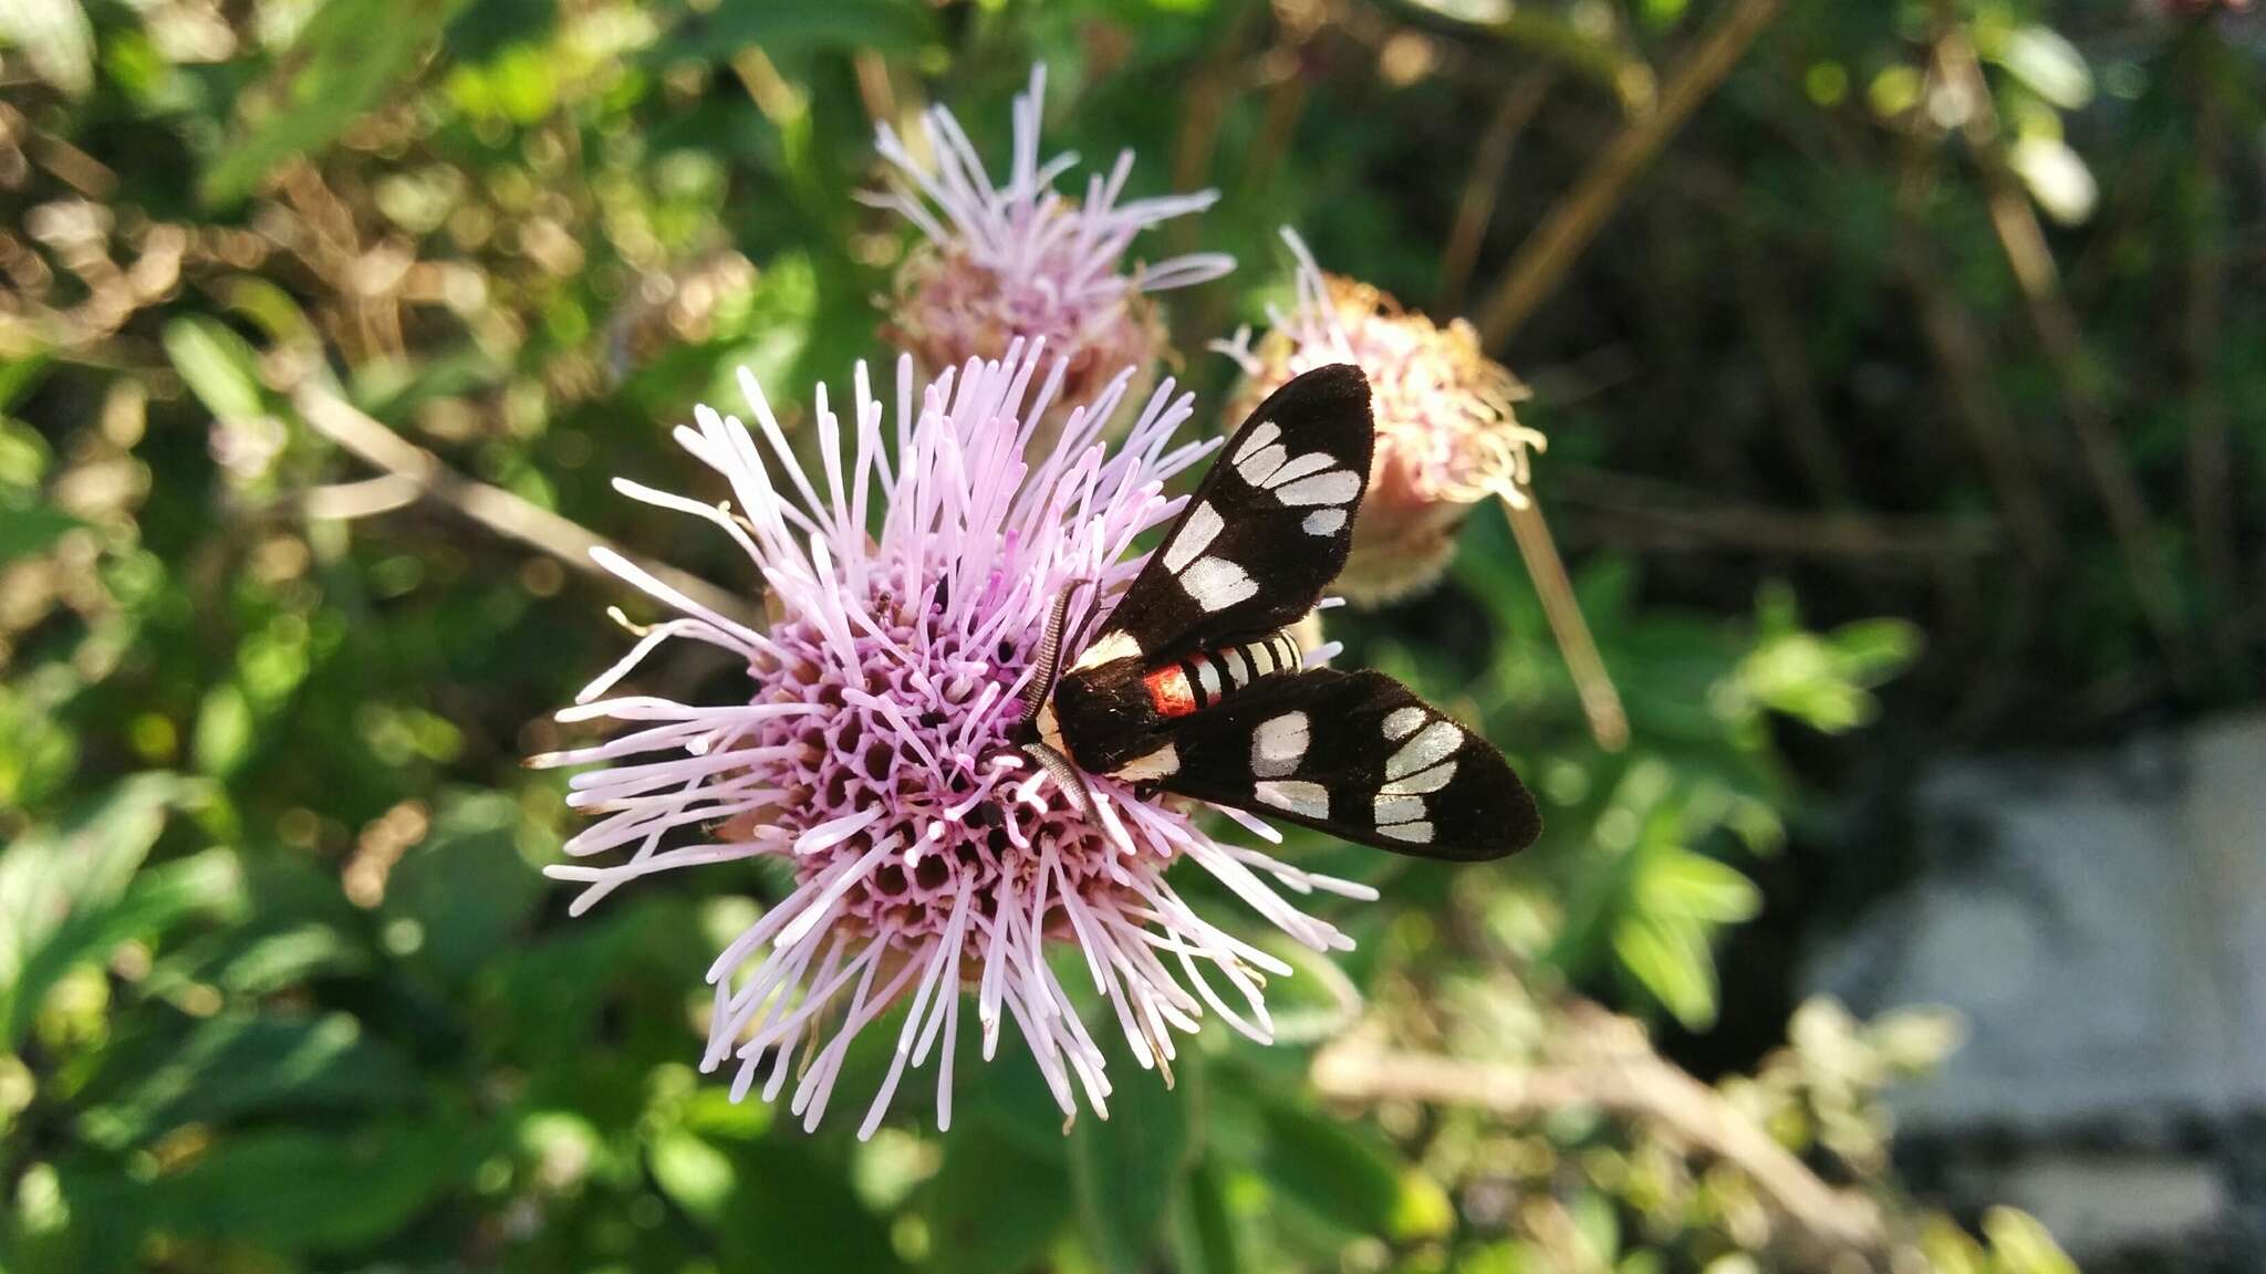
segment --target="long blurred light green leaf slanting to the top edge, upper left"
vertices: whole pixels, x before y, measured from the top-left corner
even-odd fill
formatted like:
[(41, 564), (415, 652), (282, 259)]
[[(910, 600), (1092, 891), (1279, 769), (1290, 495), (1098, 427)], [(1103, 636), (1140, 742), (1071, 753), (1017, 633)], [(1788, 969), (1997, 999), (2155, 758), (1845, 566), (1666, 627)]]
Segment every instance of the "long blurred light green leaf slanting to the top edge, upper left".
[(417, 70), (462, 0), (331, 0), (315, 9), (249, 134), (222, 150), (197, 195), (233, 204), (295, 154), (320, 152)]

